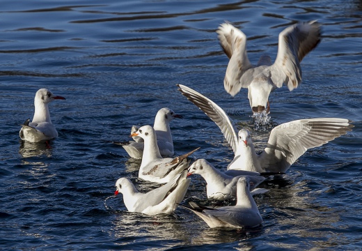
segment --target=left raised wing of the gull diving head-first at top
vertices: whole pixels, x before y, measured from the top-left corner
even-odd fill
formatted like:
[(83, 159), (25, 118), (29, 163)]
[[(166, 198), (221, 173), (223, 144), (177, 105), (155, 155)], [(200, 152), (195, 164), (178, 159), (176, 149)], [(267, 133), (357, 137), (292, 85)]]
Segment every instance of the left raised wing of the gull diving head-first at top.
[(221, 24), (217, 33), (220, 45), (230, 59), (223, 85), (231, 96), (235, 96), (242, 87), (247, 88), (249, 85), (249, 82), (240, 82), (240, 78), (246, 70), (253, 67), (246, 54), (246, 36), (228, 23)]

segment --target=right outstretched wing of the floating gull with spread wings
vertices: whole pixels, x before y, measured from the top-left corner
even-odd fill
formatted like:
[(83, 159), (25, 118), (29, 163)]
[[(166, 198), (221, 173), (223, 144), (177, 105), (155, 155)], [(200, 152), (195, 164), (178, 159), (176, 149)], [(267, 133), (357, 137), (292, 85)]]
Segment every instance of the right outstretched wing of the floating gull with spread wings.
[(258, 155), (260, 165), (269, 172), (285, 172), (308, 149), (352, 130), (351, 121), (338, 118), (301, 119), (276, 126), (267, 148)]

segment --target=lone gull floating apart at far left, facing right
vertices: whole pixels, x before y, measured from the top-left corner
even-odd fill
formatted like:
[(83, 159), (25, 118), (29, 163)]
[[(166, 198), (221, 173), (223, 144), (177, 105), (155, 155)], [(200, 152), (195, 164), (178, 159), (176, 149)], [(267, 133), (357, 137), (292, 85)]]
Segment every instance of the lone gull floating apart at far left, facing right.
[(41, 142), (58, 137), (58, 132), (50, 120), (48, 108), (49, 102), (57, 99), (65, 100), (64, 97), (54, 96), (52, 91), (47, 89), (39, 89), (36, 92), (33, 121), (30, 122), (30, 119), (27, 119), (19, 131), (19, 137), (22, 140)]

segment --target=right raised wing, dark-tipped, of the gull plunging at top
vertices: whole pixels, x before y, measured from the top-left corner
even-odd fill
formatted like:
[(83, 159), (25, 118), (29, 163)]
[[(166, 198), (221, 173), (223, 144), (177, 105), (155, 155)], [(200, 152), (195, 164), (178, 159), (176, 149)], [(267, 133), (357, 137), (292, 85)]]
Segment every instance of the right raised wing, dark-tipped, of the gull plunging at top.
[(301, 83), (300, 62), (321, 40), (321, 27), (315, 21), (294, 24), (279, 34), (278, 54), (269, 76), (277, 87), (285, 84), (292, 91)]

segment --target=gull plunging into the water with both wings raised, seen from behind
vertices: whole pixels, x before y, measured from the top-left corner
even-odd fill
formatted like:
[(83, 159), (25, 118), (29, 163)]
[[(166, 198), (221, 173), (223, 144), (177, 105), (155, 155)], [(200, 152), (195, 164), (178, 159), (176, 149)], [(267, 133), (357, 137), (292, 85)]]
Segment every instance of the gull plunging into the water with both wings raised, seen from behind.
[(321, 26), (316, 21), (288, 26), (279, 34), (278, 54), (272, 64), (269, 55), (262, 55), (253, 66), (246, 54), (246, 35), (232, 24), (217, 29), (223, 51), (230, 59), (223, 86), (235, 96), (240, 89), (248, 89), (250, 107), (254, 113), (263, 112), (269, 94), (285, 84), (289, 91), (301, 84), (301, 60), (320, 43)]

